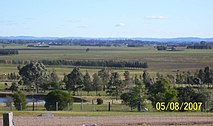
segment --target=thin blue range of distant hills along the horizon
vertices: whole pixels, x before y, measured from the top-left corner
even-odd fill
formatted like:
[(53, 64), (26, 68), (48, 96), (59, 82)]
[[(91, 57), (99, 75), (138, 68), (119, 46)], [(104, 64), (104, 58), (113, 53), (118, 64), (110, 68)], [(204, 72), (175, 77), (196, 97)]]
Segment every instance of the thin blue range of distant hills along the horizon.
[(141, 40), (154, 42), (213, 42), (213, 38), (199, 38), (199, 37), (179, 37), (179, 38), (89, 38), (89, 37), (34, 37), (34, 36), (0, 36), (0, 39), (23, 39), (23, 40), (56, 40), (56, 39), (85, 39), (85, 40)]

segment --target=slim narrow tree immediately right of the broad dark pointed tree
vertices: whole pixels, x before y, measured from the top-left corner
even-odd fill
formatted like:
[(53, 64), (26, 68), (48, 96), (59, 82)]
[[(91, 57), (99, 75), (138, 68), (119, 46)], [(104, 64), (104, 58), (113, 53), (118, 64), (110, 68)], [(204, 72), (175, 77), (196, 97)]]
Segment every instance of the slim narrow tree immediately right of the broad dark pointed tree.
[(87, 91), (87, 95), (89, 95), (89, 92), (92, 91), (92, 81), (88, 71), (86, 71), (86, 74), (84, 75), (83, 84), (84, 90)]

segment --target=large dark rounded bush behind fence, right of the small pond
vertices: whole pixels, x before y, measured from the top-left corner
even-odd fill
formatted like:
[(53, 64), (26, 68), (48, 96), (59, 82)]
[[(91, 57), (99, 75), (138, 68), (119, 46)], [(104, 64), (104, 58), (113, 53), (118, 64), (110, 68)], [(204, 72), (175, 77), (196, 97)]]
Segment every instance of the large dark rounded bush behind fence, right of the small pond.
[(56, 102), (58, 102), (58, 110), (64, 110), (68, 103), (72, 105), (72, 99), (69, 93), (55, 90), (47, 94), (44, 107), (48, 111), (56, 110)]

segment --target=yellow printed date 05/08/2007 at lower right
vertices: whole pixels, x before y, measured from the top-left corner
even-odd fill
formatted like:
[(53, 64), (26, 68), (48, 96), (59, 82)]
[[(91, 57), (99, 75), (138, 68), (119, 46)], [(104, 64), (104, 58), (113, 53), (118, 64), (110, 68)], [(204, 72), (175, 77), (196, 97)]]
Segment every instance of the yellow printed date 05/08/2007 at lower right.
[(155, 108), (158, 111), (198, 111), (201, 110), (202, 102), (157, 102)]

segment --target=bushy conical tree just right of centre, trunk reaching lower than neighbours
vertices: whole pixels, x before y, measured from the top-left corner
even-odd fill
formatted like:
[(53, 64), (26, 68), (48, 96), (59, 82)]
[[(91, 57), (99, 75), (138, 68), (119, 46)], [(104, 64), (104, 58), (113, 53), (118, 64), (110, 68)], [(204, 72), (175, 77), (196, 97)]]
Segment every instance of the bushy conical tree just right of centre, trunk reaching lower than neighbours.
[(107, 93), (111, 96), (115, 96), (117, 100), (118, 96), (122, 94), (124, 87), (125, 85), (123, 81), (120, 79), (119, 73), (118, 72), (112, 73), (107, 87)]

